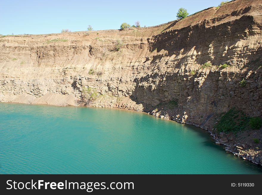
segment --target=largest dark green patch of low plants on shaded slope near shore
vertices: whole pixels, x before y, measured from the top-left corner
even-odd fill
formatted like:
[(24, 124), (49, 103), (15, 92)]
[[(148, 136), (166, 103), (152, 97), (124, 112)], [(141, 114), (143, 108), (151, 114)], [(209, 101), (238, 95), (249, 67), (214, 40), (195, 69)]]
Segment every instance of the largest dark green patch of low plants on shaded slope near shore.
[(237, 133), (247, 129), (248, 121), (249, 117), (246, 116), (244, 112), (239, 111), (236, 108), (232, 108), (221, 116), (219, 122), (214, 127), (218, 133)]

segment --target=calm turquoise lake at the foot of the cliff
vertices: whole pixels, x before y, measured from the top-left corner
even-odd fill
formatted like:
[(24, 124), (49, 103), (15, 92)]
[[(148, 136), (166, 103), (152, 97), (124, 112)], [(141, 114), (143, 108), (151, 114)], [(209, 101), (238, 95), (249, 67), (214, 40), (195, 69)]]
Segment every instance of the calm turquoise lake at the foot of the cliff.
[(1, 174), (262, 174), (205, 130), (110, 108), (0, 103)]

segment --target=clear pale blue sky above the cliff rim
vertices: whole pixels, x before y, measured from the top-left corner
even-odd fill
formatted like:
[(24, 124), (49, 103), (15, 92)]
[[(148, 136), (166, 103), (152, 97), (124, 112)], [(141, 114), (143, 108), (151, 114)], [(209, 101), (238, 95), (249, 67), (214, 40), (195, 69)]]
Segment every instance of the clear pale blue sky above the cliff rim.
[(176, 19), (184, 7), (193, 14), (218, 6), (221, 0), (16, 0), (0, 3), (0, 34), (60, 33), (63, 28), (86, 31), (119, 29), (121, 23), (155, 26)]

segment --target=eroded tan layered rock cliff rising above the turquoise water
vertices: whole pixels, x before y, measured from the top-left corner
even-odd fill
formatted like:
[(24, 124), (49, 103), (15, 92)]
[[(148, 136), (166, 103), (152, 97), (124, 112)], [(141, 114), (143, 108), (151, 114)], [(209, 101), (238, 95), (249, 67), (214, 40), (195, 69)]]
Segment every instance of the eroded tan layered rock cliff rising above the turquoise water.
[[(146, 111), (212, 130), (233, 107), (262, 115), (261, 27), (261, 1), (236, 0), (155, 27), (1, 36), (0, 101), (83, 105), (85, 86), (98, 93), (91, 106)], [(254, 148), (249, 142), (246, 148)]]

